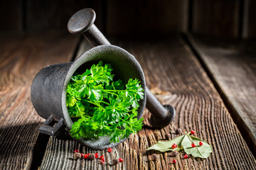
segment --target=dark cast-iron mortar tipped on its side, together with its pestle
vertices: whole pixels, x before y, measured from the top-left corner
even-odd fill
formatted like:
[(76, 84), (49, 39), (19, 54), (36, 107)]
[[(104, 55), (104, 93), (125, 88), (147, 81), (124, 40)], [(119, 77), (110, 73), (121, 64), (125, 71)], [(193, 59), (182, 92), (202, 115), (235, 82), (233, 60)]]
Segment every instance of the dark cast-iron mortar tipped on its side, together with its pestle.
[[(162, 106), (153, 94), (146, 88), (144, 72), (139, 62), (126, 50), (110, 45), (110, 42), (100, 33), (93, 24), (96, 14), (90, 8), (85, 8), (75, 13), (68, 22), (70, 33), (82, 33), (85, 38), (96, 47), (84, 52), (74, 62), (53, 64), (41, 69), (33, 79), (31, 86), (31, 101), (38, 115), (46, 119), (39, 130), (46, 135), (56, 136), (65, 127), (72, 128), (73, 121), (68, 114), (66, 106), (66, 89), (75, 72), (85, 72), (92, 64), (102, 60), (110, 63), (115, 77), (122, 79), (124, 84), (129, 79), (139, 79), (144, 89), (144, 99), (139, 101), (138, 119), (142, 118), (144, 108), (152, 113), (150, 123), (155, 128), (164, 128), (174, 119), (175, 110), (170, 105)], [(53, 122), (57, 122), (51, 126)], [(123, 139), (120, 142), (124, 142)], [(99, 137), (97, 139), (78, 140), (82, 145), (92, 149), (107, 149), (119, 143), (110, 142), (110, 137)]]

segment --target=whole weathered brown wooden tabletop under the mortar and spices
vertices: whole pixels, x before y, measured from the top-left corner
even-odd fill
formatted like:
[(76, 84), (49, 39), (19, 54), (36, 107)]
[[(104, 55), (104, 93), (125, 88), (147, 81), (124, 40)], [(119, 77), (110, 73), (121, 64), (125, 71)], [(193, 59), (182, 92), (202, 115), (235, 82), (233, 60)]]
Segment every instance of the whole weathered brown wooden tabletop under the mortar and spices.
[[(44, 119), (34, 110), (30, 86), (48, 64), (70, 62), (90, 45), (68, 33), (0, 33), (0, 169), (256, 169), (256, 43), (170, 35), (154, 40), (115, 38), (113, 45), (134, 55), (146, 83), (164, 104), (176, 109), (166, 128), (145, 126), (111, 153), (83, 147), (66, 137), (42, 135)], [(145, 110), (145, 125), (150, 113)], [(166, 133), (196, 130), (213, 146), (208, 159), (183, 159), (146, 152)], [(74, 160), (73, 151), (98, 152), (106, 162)], [(151, 161), (156, 153), (159, 160)], [(124, 162), (110, 165), (112, 159)]]

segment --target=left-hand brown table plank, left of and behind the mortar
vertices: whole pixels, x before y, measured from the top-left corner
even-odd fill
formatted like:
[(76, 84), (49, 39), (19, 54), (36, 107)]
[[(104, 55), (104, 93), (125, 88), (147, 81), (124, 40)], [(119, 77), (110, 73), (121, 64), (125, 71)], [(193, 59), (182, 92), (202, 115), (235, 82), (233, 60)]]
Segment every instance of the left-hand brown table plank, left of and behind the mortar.
[(68, 62), (78, 38), (63, 33), (10, 37), (0, 35), (0, 169), (30, 169), (43, 122), (31, 103), (31, 82), (46, 65)]

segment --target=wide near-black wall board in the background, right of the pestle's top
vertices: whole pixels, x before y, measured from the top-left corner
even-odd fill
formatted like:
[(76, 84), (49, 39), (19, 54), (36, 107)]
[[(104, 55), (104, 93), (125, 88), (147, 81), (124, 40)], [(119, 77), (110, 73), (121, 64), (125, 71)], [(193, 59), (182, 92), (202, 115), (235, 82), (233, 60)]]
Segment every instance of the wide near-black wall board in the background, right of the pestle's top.
[(186, 31), (188, 1), (107, 1), (107, 34), (160, 35)]

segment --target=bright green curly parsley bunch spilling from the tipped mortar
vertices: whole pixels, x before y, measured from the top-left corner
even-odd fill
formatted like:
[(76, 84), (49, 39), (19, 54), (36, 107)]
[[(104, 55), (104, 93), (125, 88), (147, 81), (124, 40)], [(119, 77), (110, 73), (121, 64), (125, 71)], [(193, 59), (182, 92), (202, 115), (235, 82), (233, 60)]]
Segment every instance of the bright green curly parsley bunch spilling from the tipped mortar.
[(100, 61), (83, 74), (73, 75), (66, 103), (70, 118), (76, 120), (70, 130), (75, 139), (109, 136), (111, 142), (129, 137), (142, 129), (137, 109), (144, 98), (138, 79), (113, 81), (112, 67)]

